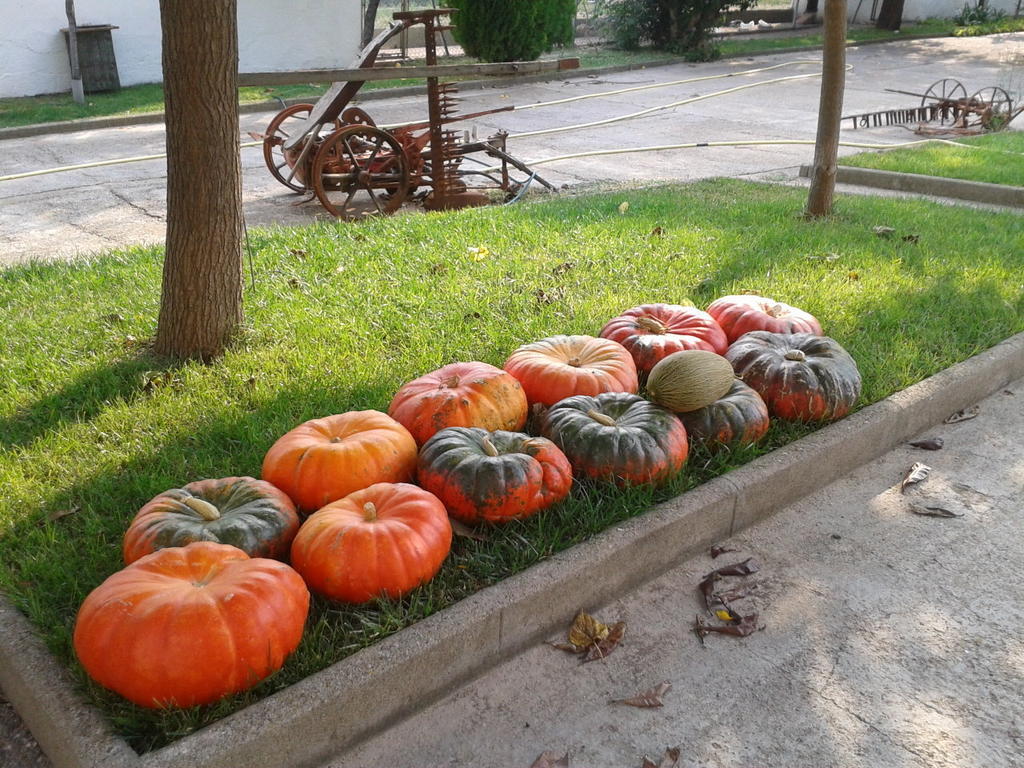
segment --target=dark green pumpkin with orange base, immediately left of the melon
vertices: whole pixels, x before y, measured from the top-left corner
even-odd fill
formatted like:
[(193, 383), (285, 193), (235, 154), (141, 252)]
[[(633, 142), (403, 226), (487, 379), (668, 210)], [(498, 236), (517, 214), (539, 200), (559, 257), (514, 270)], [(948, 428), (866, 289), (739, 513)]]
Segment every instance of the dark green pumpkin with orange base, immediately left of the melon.
[(620, 485), (667, 482), (689, 450), (675, 414), (628, 392), (566, 397), (544, 413), (540, 429), (568, 457), (573, 474)]

